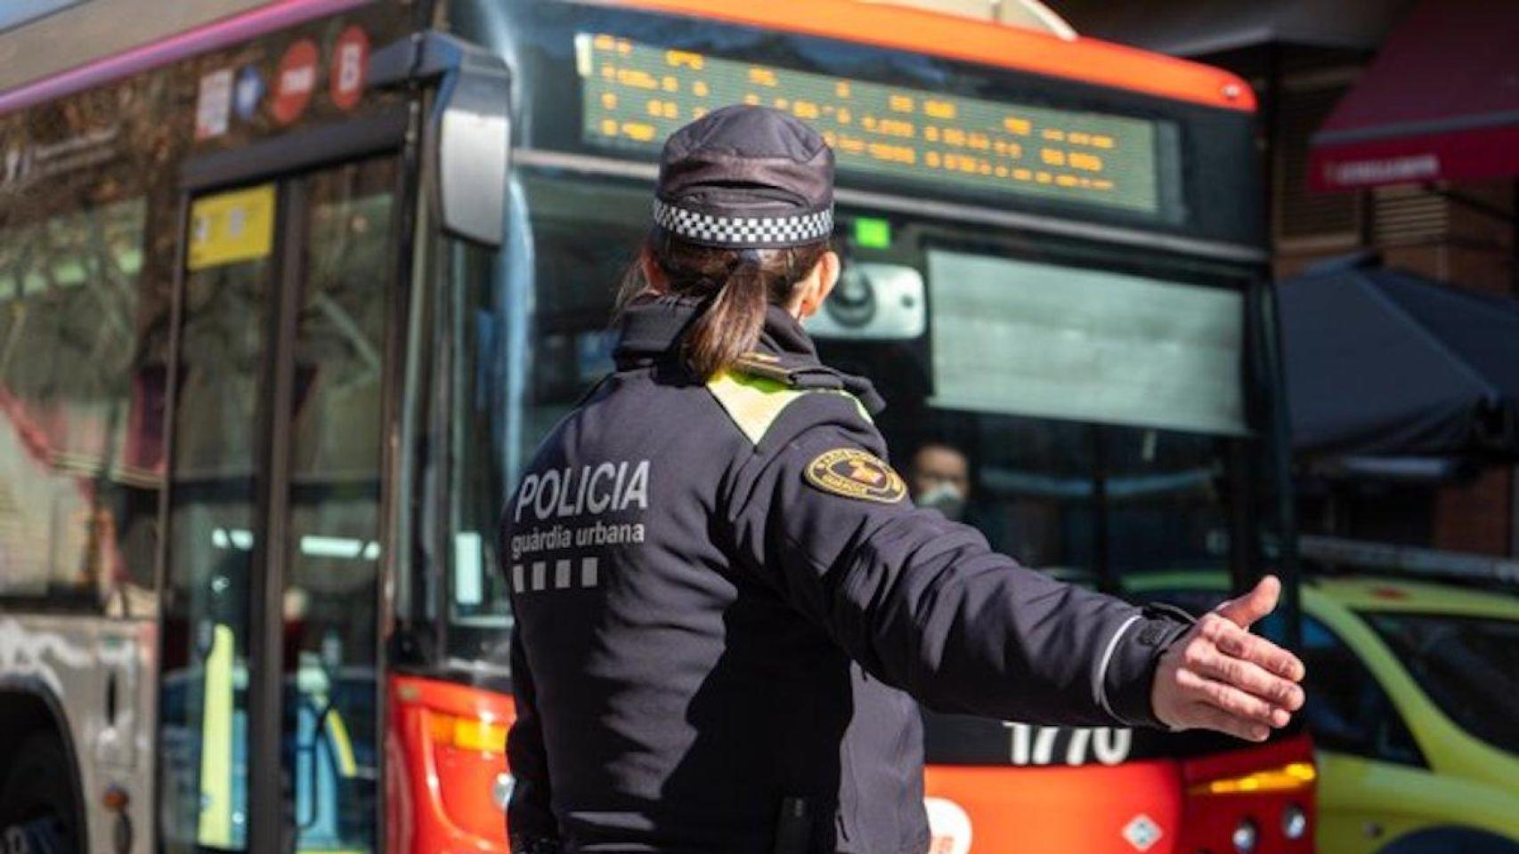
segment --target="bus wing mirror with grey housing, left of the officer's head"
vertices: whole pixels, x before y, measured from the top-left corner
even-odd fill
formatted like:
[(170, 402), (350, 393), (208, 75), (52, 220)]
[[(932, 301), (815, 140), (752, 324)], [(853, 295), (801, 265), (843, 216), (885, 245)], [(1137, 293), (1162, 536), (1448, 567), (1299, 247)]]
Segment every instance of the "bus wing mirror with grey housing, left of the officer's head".
[(500, 56), (434, 30), (375, 52), (369, 85), (437, 80), (427, 153), (431, 205), (444, 232), (501, 247), (512, 152), (512, 76)]

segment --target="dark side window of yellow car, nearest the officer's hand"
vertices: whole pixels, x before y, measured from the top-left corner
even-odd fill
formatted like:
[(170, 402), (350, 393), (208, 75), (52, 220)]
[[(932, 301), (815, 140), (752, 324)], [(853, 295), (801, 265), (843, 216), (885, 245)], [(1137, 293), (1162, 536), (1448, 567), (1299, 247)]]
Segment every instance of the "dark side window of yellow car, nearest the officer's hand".
[(1308, 666), (1303, 717), (1320, 748), (1399, 765), (1426, 765), (1381, 683), (1329, 626), (1303, 616), (1300, 655)]

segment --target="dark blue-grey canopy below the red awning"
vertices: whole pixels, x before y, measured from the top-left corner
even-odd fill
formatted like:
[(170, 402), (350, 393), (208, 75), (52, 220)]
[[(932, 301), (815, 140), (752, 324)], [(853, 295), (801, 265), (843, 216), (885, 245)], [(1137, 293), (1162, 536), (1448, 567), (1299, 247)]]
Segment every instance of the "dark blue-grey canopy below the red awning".
[(1297, 451), (1519, 460), (1519, 302), (1367, 256), (1277, 302)]

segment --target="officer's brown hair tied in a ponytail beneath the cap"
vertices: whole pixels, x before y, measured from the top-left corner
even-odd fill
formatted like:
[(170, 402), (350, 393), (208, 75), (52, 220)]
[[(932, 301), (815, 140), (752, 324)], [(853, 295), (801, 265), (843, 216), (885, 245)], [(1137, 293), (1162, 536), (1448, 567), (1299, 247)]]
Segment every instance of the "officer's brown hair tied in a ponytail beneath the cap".
[[(790, 302), (797, 282), (828, 250), (828, 241), (788, 249), (714, 249), (653, 232), (623, 276), (618, 311), (647, 297), (700, 299), (702, 316), (687, 332), (684, 350), (691, 372), (711, 379), (755, 347), (766, 309)], [(646, 258), (664, 282), (644, 276)]]

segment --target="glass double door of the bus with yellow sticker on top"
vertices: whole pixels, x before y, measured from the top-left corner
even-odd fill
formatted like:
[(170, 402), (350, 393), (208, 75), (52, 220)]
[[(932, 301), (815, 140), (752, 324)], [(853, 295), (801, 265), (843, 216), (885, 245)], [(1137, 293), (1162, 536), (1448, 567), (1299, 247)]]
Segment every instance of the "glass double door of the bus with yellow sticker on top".
[(375, 851), (396, 156), (190, 194), (163, 663), (167, 851)]

